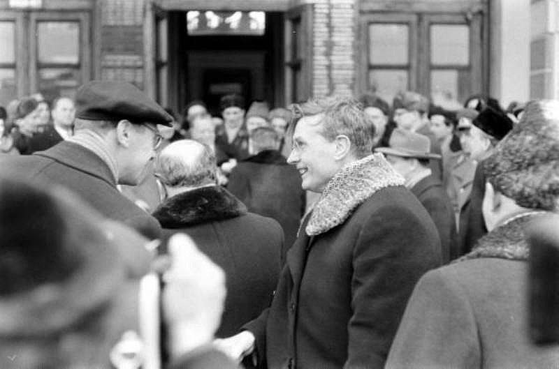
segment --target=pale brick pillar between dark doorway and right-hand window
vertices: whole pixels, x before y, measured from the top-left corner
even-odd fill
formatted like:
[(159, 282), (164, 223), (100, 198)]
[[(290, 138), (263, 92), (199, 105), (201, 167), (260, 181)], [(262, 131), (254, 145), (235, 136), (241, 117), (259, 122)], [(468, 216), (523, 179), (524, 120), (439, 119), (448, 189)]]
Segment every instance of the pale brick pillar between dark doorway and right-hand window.
[(314, 1), (313, 96), (354, 91), (356, 6), (356, 0)]

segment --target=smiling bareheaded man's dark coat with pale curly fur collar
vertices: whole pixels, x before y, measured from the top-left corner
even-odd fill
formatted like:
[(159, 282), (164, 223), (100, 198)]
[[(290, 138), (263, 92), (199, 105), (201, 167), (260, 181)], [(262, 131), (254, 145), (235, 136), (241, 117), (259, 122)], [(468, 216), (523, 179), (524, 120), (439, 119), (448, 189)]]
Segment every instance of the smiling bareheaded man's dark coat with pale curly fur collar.
[(245, 325), (262, 368), (383, 368), (417, 280), (440, 265), (433, 220), (382, 154), (326, 185), (268, 310)]

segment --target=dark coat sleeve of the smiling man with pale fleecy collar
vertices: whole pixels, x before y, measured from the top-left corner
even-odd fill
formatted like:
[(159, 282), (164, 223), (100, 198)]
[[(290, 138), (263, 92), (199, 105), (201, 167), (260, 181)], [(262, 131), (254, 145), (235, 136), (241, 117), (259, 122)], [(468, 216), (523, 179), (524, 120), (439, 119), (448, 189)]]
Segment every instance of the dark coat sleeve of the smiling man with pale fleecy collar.
[(354, 247), (344, 368), (384, 368), (414, 285), (439, 265), (440, 242), (430, 220), (402, 206), (372, 213)]

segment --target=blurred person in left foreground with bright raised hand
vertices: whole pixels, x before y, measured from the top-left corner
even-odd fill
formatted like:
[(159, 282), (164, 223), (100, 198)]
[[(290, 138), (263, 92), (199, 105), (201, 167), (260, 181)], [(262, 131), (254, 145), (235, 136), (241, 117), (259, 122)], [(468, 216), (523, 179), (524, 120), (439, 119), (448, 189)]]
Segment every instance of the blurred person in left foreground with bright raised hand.
[[(124, 333), (139, 339), (136, 282), (150, 259), (133, 250), (147, 239), (67, 190), (4, 179), (0, 234), (0, 368), (138, 368), (141, 340), (134, 352), (119, 345)], [(170, 368), (234, 368), (207, 345), (222, 313), (223, 271), (187, 236), (169, 249)]]

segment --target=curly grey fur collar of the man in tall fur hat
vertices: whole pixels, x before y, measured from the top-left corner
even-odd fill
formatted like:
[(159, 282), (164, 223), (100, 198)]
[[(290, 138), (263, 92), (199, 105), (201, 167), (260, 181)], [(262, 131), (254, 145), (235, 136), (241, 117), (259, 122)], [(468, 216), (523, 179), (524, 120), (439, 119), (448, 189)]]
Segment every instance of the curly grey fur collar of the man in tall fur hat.
[(526, 260), (530, 249), (525, 239), (526, 226), (538, 216), (546, 214), (545, 211), (530, 211), (510, 218), (504, 224), (495, 227), (485, 234), (471, 253), (460, 257), (455, 262), (481, 257), (498, 257), (500, 259)]

